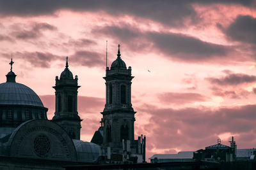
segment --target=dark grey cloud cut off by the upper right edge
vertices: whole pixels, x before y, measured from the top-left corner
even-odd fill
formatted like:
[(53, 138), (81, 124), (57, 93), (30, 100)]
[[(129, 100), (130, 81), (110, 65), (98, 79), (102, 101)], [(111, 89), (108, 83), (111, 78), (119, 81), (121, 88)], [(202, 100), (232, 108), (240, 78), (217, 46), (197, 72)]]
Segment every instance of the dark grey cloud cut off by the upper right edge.
[(256, 18), (239, 15), (225, 30), (228, 38), (256, 45)]

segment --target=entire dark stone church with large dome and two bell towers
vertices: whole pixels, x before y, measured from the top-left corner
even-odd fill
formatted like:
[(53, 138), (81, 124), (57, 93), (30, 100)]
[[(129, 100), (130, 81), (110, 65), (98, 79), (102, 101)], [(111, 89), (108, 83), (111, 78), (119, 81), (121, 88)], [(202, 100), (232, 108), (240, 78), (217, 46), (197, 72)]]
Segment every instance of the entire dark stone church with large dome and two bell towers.
[(0, 83), (0, 169), (63, 169), (84, 164), (145, 162), (145, 136), (134, 139), (131, 67), (121, 59), (106, 67), (106, 104), (92, 141), (82, 141), (77, 111), (78, 76), (68, 68), (55, 78), (55, 113), (48, 120), (40, 97), (17, 83), (11, 69)]

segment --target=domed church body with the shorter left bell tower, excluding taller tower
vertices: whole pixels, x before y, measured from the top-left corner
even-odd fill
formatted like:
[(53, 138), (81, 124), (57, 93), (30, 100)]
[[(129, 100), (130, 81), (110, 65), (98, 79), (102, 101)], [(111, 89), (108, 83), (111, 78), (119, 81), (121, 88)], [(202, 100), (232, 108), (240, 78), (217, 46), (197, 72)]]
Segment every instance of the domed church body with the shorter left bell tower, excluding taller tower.
[(63, 169), (63, 165), (97, 162), (100, 146), (80, 141), (77, 113), (77, 76), (68, 60), (56, 77), (56, 111), (47, 120), (47, 108), (36, 93), (16, 83), (15, 73), (0, 84), (0, 169)]

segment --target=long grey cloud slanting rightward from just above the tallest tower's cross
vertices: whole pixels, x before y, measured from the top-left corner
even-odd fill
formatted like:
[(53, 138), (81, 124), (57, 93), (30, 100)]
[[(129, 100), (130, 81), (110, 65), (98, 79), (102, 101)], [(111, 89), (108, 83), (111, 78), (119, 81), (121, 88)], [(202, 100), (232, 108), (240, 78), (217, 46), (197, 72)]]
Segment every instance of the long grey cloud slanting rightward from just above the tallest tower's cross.
[(164, 56), (182, 61), (204, 62), (223, 59), (232, 52), (232, 47), (208, 43), (185, 34), (172, 32), (142, 32), (134, 25), (120, 24), (95, 27), (93, 34), (105, 35), (129, 46), (136, 52), (162, 53)]

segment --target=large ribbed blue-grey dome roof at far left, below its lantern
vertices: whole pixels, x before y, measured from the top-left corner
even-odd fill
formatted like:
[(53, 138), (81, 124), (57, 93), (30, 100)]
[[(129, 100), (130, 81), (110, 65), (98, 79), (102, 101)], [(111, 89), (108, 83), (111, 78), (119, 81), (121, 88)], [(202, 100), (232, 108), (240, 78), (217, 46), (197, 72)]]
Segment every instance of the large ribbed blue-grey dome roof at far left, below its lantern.
[(0, 84), (0, 104), (44, 107), (44, 104), (32, 89), (15, 82)]

